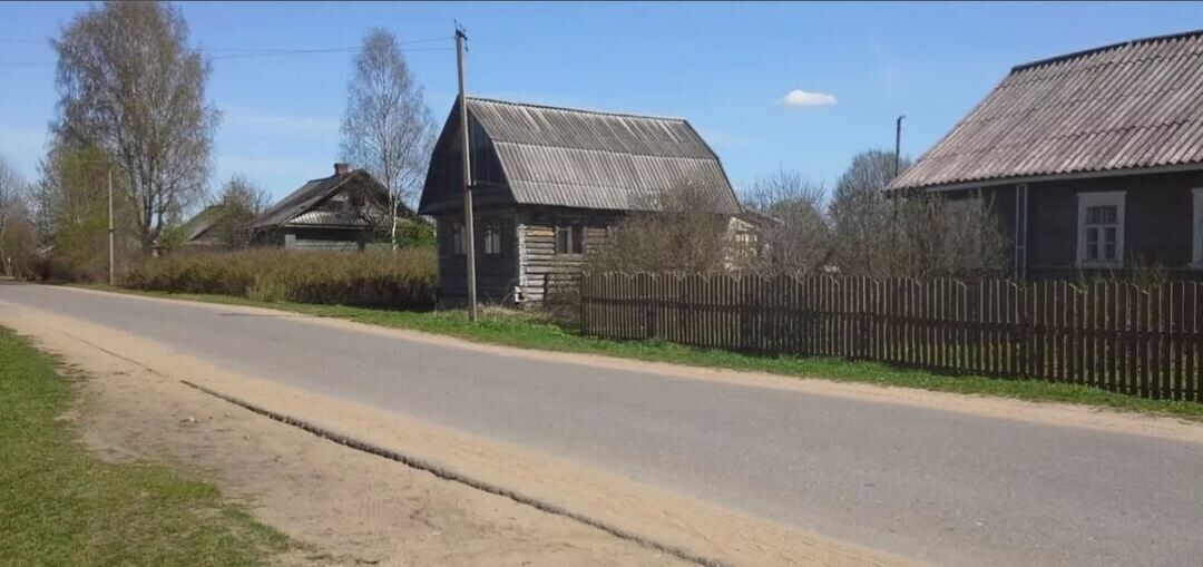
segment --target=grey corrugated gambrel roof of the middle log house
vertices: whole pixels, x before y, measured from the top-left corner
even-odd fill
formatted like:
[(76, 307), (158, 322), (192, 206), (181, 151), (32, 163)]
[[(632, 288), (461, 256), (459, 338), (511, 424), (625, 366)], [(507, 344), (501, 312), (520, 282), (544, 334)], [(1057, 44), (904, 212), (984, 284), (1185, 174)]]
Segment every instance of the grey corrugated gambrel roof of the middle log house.
[[(700, 183), (716, 212), (740, 212), (718, 156), (681, 118), (468, 98), (520, 205), (647, 209), (682, 179)], [(448, 120), (458, 123), (458, 104)], [(431, 190), (427, 178), (425, 194)]]

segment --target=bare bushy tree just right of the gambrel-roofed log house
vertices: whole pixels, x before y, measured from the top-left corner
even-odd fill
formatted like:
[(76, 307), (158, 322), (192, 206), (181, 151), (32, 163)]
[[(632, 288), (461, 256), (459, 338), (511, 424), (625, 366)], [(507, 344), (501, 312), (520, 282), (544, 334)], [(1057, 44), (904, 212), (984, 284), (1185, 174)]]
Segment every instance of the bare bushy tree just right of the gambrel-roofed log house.
[(743, 205), (759, 214), (757, 223), (761, 273), (804, 276), (819, 270), (831, 249), (831, 228), (823, 214), (826, 189), (794, 170), (757, 178)]

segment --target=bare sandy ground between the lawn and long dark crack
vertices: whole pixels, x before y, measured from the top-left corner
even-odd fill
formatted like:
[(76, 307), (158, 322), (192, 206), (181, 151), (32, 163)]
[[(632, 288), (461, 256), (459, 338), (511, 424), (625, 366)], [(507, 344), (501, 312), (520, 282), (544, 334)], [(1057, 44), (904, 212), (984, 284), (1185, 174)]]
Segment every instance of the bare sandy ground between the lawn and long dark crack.
[(84, 343), (41, 342), (88, 377), (76, 419), (89, 448), (215, 480), (300, 543), (280, 557), (285, 565), (688, 565), (342, 447)]

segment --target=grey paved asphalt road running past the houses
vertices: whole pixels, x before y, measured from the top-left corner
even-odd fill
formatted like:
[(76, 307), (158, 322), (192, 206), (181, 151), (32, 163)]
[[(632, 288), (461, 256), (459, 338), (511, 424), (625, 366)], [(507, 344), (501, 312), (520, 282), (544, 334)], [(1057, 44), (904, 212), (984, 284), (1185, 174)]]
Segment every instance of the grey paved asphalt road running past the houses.
[(935, 563), (1203, 561), (1203, 445), (51, 287), (0, 285), (0, 301)]

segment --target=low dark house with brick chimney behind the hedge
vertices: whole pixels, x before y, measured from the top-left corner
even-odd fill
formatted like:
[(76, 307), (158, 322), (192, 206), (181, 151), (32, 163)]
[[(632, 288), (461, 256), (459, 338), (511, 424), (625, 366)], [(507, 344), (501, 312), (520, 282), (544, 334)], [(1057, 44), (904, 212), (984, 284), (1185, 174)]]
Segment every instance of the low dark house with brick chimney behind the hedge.
[[(414, 214), (398, 203), (398, 214)], [(334, 164), (250, 223), (251, 243), (283, 248), (362, 249), (387, 230), (389, 190), (367, 171)]]

